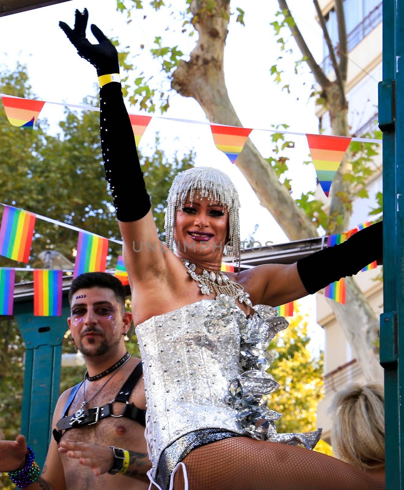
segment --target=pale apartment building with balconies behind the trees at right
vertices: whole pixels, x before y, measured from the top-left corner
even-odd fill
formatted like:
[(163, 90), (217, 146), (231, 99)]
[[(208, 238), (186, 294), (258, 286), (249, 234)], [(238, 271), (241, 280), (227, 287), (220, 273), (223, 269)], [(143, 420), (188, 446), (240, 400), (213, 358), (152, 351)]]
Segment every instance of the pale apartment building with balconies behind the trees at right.
[[(334, 1), (320, 0), (326, 16), (328, 32), (333, 46), (338, 45), (338, 32)], [(379, 0), (345, 0), (345, 18), (348, 33), (348, 80), (349, 122), (352, 134), (360, 137), (377, 129), (378, 82), (382, 77), (382, 2)], [(333, 71), (324, 41), (322, 66), (332, 78)], [(321, 108), (317, 112), (325, 134), (330, 134), (329, 114)], [(369, 197), (358, 198), (353, 204), (350, 228), (369, 219), (369, 211), (376, 206), (376, 194), (382, 191), (381, 148), (371, 164), (375, 172), (368, 179)], [(322, 192), (317, 190), (318, 198)], [(374, 279), (380, 267), (359, 272), (355, 280), (368, 298), (376, 315), (383, 309), (383, 287)], [(329, 441), (331, 418), (326, 414), (335, 392), (352, 382), (364, 382), (363, 372), (355, 360), (354, 353), (345, 334), (338, 324), (324, 294), (317, 294), (317, 322), (325, 330), (325, 398), (317, 408), (317, 424), (323, 427), (323, 438)]]

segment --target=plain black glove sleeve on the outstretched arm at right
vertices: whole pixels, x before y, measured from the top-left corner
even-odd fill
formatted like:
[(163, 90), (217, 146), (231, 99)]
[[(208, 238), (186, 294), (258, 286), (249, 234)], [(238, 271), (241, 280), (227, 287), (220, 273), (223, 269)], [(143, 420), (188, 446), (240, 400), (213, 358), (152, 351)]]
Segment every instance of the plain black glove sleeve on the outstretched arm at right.
[(297, 262), (307, 293), (314, 294), (341, 277), (352, 276), (383, 256), (383, 221), (358, 231), (340, 245), (327, 247)]

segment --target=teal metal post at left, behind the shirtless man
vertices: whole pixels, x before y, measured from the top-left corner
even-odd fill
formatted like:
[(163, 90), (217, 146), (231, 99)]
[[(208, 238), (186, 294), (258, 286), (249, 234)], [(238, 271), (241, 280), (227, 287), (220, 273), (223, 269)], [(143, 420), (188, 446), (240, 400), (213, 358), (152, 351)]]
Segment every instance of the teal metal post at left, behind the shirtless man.
[(14, 318), (24, 338), (25, 373), (21, 433), (42, 468), (51, 438), (53, 411), (59, 397), (63, 335), (70, 306), (63, 298), (61, 317), (34, 317), (32, 299), (14, 304)]

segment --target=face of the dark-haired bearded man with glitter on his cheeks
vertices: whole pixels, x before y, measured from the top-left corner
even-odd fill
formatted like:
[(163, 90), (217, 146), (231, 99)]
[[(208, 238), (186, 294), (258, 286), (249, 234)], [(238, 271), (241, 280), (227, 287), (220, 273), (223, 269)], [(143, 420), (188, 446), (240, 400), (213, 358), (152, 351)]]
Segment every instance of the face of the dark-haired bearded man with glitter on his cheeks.
[(81, 353), (93, 357), (112, 353), (123, 342), (130, 320), (111, 289), (94, 287), (76, 291), (68, 323)]

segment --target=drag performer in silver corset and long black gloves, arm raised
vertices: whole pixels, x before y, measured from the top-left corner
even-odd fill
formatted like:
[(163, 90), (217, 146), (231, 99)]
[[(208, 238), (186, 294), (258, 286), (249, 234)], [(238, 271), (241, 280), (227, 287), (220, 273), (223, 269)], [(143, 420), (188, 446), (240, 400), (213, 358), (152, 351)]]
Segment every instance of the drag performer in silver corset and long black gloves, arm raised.
[(261, 401), (278, 387), (266, 372), (266, 348), (287, 326), (273, 306), (315, 293), (379, 258), (380, 225), (297, 264), (223, 273), (224, 253), (240, 260), (239, 199), (227, 175), (199, 167), (175, 178), (167, 246), (160, 244), (117, 52), (95, 25), (99, 44), (89, 43), (87, 18), (86, 10), (76, 11), (74, 30), (60, 26), (99, 76), (102, 156), (144, 363), (151, 488), (383, 489), (365, 472), (310, 451), (320, 430), (277, 434), (281, 414)]

